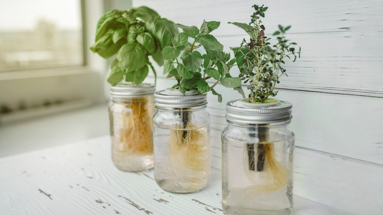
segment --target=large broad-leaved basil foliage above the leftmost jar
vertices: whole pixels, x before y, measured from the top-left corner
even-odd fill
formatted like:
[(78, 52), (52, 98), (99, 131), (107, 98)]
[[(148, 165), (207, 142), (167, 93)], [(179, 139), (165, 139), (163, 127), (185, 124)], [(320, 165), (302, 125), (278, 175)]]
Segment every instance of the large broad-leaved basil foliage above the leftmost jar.
[[(176, 34), (178, 34), (178, 28), (174, 26), (174, 23), (161, 18), (149, 7), (110, 10), (99, 19), (95, 43), (90, 50), (105, 59), (116, 54), (116, 59), (110, 66), (109, 83), (116, 84), (125, 77), (125, 81), (139, 84), (148, 75), (149, 67), (155, 79), (157, 78), (148, 56), (152, 55), (158, 65), (164, 65), (162, 50), (165, 46), (172, 45), (171, 40)], [(180, 35), (177, 39), (183, 44), (185, 38), (187, 42), (186, 35)], [(166, 55), (165, 59), (174, 55), (171, 59), (173, 60), (178, 54), (180, 50), (175, 49), (173, 53)], [(168, 70), (164, 70), (164, 73), (169, 73), (174, 66), (171, 64), (166, 68)]]

